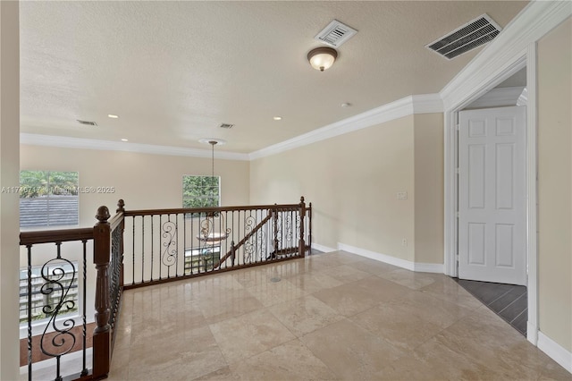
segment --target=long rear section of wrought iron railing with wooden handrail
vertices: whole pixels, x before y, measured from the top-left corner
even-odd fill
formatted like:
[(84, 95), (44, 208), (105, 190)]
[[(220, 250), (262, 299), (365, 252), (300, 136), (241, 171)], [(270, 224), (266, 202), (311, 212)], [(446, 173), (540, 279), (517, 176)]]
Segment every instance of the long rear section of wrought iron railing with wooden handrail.
[(127, 209), (124, 287), (304, 257), (311, 211), (304, 198), (288, 205)]

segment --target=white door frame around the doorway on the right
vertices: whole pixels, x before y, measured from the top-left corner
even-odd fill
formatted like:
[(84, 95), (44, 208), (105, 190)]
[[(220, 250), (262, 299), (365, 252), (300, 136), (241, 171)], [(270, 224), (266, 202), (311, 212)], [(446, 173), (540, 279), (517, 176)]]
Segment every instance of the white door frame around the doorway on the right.
[(528, 265), (528, 322), (527, 339), (534, 345), (538, 340), (538, 268), (537, 268), (537, 166), (536, 166), (536, 44), (531, 43), (521, 55), (501, 72), (492, 75), (482, 85), (475, 87), (467, 97), (458, 99), (445, 109), (445, 157), (444, 157), (444, 202), (445, 202), (445, 274), (458, 276), (458, 112), (493, 89), (502, 80), (526, 66), (526, 258)]

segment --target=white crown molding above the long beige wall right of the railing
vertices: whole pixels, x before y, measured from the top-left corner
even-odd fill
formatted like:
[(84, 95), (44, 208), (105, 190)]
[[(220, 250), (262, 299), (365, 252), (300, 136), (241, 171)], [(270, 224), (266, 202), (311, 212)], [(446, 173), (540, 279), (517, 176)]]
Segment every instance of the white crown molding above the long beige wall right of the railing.
[(350, 116), (340, 122), (328, 124), (309, 131), (290, 140), (284, 140), (272, 146), (252, 152), (250, 160), (269, 157), (278, 153), (307, 146), (321, 140), (330, 139), (349, 132), (389, 122), (412, 114), (442, 113), (443, 103), (439, 94), (424, 94), (403, 97), (395, 102), (376, 107), (362, 114)]

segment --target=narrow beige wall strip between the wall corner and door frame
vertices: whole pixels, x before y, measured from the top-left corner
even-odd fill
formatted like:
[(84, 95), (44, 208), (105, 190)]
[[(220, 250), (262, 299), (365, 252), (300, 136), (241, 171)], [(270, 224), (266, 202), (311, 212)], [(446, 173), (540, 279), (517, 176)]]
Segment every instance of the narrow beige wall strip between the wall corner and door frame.
[(443, 115), (415, 115), (415, 261), (443, 263)]

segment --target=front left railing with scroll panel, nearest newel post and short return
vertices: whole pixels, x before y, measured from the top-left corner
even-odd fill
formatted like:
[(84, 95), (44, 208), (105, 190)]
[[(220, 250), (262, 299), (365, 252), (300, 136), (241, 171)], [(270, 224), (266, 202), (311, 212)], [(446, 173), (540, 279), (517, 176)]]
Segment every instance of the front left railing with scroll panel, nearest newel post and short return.
[[(38, 378), (33, 364), (40, 360), (55, 362), (36, 372), (41, 379), (98, 379), (109, 372), (122, 293), (123, 226), (119, 209), (114, 218), (109, 217), (107, 207), (99, 207), (98, 222), (92, 228), (20, 233), (20, 245), (26, 247), (27, 257), (21, 299), (26, 299), (23, 320), (27, 326), (29, 380)], [(55, 244), (55, 250), (51, 245), (46, 248), (49, 243)], [(88, 252), (88, 244), (93, 245), (92, 252)], [(92, 256), (97, 275), (88, 279)], [(89, 332), (86, 292), (94, 283), (96, 328)], [(79, 291), (73, 298), (72, 290)], [(88, 342), (92, 343), (91, 354)], [(67, 361), (63, 368), (66, 356), (78, 351), (81, 361)]]

